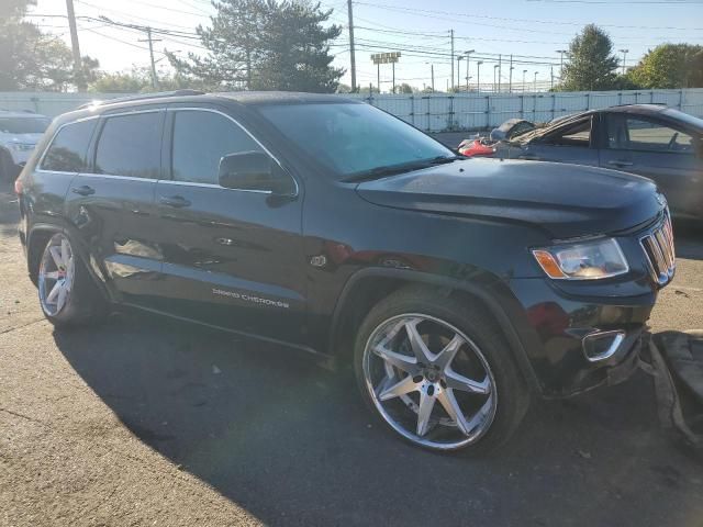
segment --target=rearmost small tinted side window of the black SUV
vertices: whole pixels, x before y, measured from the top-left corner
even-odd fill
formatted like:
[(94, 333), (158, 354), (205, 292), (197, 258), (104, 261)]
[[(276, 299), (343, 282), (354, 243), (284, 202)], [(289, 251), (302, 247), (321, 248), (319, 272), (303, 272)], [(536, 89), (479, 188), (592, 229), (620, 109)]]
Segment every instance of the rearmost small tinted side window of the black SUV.
[(86, 170), (86, 153), (97, 122), (97, 119), (91, 119), (60, 128), (46, 150), (40, 168), (57, 172)]

